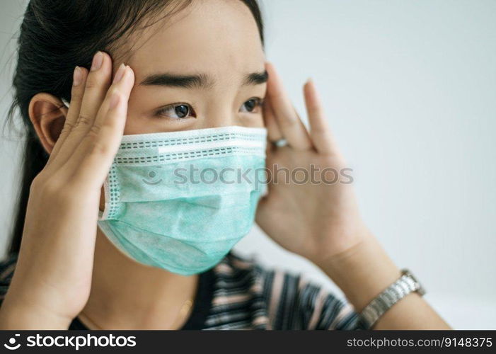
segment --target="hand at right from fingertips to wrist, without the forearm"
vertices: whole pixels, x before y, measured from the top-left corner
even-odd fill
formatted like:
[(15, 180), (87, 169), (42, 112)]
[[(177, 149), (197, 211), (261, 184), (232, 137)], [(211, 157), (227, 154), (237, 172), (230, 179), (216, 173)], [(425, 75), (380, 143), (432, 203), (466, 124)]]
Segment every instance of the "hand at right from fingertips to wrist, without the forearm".
[[(304, 86), (308, 132), (275, 68), (267, 62), (266, 69), (264, 119), (272, 176), (256, 222), (284, 249), (321, 264), (359, 244), (368, 230), (359, 215), (350, 169), (333, 140), (313, 82)], [(279, 139), (287, 145), (271, 143)]]

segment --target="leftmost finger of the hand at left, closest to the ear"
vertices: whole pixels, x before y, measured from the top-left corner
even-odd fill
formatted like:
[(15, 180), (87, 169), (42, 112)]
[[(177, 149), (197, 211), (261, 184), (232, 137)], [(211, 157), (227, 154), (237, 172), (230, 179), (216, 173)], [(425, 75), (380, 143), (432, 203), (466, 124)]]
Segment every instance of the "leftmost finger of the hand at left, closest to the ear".
[(83, 67), (75, 67), (72, 79), (72, 89), (71, 89), (71, 104), (69, 110), (67, 111), (67, 117), (64, 122), (64, 127), (62, 132), (60, 132), (57, 142), (55, 142), (50, 154), (50, 158), (47, 161), (47, 166), (51, 164), (56, 158), (59, 150), (64, 146), (64, 141), (71, 132), (74, 125), (76, 125), (76, 120), (79, 115), (79, 110), (81, 110), (81, 102), (83, 101), (84, 87), (86, 86), (86, 79), (88, 77), (88, 69)]

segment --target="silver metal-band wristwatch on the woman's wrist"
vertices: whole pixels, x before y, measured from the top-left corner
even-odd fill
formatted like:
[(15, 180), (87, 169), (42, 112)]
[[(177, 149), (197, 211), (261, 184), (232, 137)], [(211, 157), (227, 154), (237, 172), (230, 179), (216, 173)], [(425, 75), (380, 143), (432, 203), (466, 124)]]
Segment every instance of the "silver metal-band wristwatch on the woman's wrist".
[(413, 276), (408, 269), (401, 270), (401, 276), (396, 282), (389, 285), (386, 290), (377, 295), (360, 313), (360, 319), (371, 329), (376, 321), (384, 312), (390, 309), (393, 304), (403, 299), (410, 292), (417, 292), (419, 295), (425, 295), (425, 288)]

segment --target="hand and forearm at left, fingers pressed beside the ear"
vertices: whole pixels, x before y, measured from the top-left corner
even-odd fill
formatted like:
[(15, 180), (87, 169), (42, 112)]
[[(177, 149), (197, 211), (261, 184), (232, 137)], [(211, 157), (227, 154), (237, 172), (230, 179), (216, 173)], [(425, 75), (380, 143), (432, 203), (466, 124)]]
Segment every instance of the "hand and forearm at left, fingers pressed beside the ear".
[[(74, 70), (71, 103), (30, 188), (21, 250), (0, 329), (67, 329), (91, 290), (102, 185), (119, 148), (134, 72), (99, 52)], [(113, 81), (113, 82), (111, 82)]]

